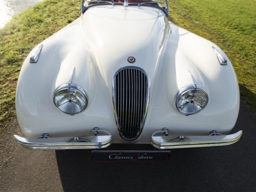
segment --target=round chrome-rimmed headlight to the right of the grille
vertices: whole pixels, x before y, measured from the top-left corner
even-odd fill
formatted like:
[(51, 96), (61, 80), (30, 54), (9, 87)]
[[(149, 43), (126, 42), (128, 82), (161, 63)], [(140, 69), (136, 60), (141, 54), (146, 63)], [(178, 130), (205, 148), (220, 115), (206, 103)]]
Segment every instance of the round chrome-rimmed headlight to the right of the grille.
[(184, 115), (202, 111), (207, 103), (207, 93), (194, 85), (182, 88), (176, 96), (176, 108)]

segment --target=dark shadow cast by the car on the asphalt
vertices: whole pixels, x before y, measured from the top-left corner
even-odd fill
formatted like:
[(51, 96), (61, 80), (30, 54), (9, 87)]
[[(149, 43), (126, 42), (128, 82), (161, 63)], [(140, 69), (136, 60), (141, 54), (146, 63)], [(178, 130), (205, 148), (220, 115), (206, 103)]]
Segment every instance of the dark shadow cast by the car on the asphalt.
[[(168, 162), (95, 163), (91, 150), (58, 150), (63, 191), (256, 191), (256, 116), (243, 102), (232, 132), (239, 130), (243, 136), (233, 145), (171, 150)], [(106, 150), (116, 148), (155, 150)]]

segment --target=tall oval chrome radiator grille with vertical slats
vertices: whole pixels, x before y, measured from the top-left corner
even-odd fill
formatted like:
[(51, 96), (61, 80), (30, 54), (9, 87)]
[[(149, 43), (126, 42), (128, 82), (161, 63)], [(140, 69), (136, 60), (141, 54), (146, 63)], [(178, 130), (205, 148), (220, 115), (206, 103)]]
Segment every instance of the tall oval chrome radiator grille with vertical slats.
[(122, 68), (113, 81), (116, 125), (124, 140), (136, 140), (143, 129), (148, 106), (148, 79), (141, 68)]

